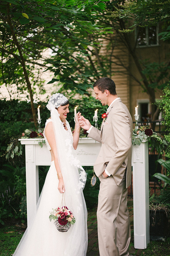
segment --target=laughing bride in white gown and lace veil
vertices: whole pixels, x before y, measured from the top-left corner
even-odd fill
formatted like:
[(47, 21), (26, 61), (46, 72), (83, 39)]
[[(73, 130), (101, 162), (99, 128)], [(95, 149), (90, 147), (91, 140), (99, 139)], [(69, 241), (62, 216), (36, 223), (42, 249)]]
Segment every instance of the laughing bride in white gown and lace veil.
[[(83, 196), (86, 173), (74, 149), (79, 142), (80, 125), (75, 118), (72, 135), (67, 122), (69, 101), (62, 93), (49, 99), (47, 108), (51, 118), (45, 124), (44, 137), (51, 153), (51, 166), (37, 203), (36, 216), (25, 231), (13, 256), (85, 256), (87, 252), (87, 208)], [(61, 206), (64, 193), (66, 206), (76, 221), (67, 232), (59, 232), (50, 211)]]

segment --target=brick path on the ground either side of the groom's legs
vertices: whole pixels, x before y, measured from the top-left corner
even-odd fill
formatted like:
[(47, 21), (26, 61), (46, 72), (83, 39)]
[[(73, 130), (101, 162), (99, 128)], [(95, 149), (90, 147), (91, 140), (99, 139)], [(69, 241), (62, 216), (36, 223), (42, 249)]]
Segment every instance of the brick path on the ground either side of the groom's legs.
[[(134, 237), (133, 237), (133, 200), (128, 198), (128, 209), (130, 215), (130, 228), (131, 228), (131, 242), (129, 248), (130, 256), (139, 256), (142, 253), (142, 249), (134, 248)], [(88, 248), (86, 256), (99, 256), (99, 245), (97, 236), (97, 217), (96, 210), (88, 210), (87, 228), (88, 228)]]

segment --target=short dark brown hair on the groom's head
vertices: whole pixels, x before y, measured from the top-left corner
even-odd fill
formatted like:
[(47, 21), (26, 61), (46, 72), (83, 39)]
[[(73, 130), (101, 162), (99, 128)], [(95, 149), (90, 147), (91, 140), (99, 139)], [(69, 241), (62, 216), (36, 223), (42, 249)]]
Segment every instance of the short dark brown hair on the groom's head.
[(116, 85), (114, 83), (114, 81), (112, 79), (110, 79), (109, 77), (102, 77), (99, 80), (97, 80), (94, 85), (93, 88), (97, 87), (100, 91), (102, 91), (102, 93), (104, 93), (105, 90), (108, 90), (110, 92), (110, 94), (112, 95), (117, 95), (116, 94)]

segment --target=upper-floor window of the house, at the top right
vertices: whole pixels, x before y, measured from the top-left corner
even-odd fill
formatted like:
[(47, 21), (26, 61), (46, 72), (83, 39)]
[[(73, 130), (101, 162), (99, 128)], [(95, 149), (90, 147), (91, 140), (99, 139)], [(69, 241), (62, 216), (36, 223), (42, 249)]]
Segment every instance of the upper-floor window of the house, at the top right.
[(158, 45), (158, 26), (138, 27), (136, 29), (137, 47)]

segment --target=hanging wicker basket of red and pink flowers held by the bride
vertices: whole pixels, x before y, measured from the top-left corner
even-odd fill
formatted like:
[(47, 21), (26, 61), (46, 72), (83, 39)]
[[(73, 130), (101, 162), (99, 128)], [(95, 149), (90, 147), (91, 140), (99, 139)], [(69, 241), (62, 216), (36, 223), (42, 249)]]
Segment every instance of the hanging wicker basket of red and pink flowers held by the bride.
[[(62, 203), (63, 203), (63, 195), (62, 194)], [(65, 197), (64, 197), (65, 202)], [(75, 218), (72, 212), (67, 208), (67, 206), (57, 207), (56, 209), (52, 209), (49, 215), (49, 220), (55, 220), (54, 225), (56, 226), (59, 232), (67, 232), (71, 226), (71, 224), (75, 223)], [(65, 203), (66, 205), (66, 203)]]

